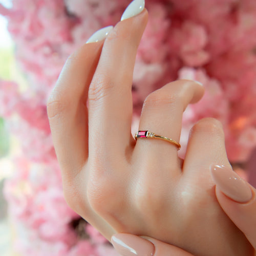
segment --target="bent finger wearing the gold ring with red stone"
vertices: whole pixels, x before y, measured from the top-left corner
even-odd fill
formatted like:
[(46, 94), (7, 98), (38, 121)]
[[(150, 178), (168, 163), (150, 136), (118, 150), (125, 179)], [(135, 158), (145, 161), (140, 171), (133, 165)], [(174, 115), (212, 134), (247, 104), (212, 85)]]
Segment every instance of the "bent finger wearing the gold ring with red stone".
[[(189, 103), (201, 99), (204, 88), (190, 80), (177, 80), (151, 93), (144, 101), (139, 130), (150, 131), (179, 142), (182, 114)], [(177, 146), (162, 139), (138, 139), (134, 153), (139, 159), (159, 159), (161, 166), (180, 170)], [(155, 172), (154, 168), (153, 172)], [(152, 174), (153, 175), (153, 174)], [(154, 175), (152, 176), (154, 177)]]

